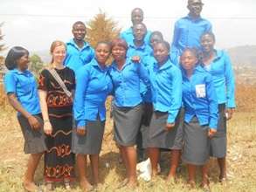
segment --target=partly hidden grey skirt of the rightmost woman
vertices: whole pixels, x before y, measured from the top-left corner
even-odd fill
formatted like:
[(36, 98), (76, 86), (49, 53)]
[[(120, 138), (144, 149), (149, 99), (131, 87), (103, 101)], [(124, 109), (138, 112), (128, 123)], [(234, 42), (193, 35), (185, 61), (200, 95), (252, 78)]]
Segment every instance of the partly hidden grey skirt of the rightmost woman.
[(225, 104), (218, 105), (218, 126), (217, 133), (210, 141), (210, 155), (223, 158), (226, 155), (226, 118)]

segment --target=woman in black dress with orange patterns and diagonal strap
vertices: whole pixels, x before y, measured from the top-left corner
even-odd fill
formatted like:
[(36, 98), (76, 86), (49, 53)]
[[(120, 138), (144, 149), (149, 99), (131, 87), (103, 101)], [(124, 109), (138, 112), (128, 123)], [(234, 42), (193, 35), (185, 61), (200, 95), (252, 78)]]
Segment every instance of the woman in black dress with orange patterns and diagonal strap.
[(52, 182), (69, 182), (74, 178), (74, 154), (71, 152), (73, 127), (73, 98), (67, 96), (49, 70), (55, 70), (69, 92), (75, 88), (73, 70), (63, 65), (66, 45), (54, 41), (51, 46), (52, 63), (49, 69), (40, 73), (39, 98), (44, 119), (45, 143), (45, 184), (52, 190)]

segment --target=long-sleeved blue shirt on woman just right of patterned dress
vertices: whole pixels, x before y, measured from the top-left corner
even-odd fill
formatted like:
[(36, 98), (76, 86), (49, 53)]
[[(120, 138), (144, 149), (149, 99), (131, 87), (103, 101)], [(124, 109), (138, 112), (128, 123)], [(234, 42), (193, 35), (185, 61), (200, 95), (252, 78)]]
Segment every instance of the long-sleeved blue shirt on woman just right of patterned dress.
[(105, 101), (112, 92), (109, 68), (102, 69), (96, 59), (77, 72), (74, 98), (74, 118), (78, 127), (86, 126), (86, 120), (106, 119)]

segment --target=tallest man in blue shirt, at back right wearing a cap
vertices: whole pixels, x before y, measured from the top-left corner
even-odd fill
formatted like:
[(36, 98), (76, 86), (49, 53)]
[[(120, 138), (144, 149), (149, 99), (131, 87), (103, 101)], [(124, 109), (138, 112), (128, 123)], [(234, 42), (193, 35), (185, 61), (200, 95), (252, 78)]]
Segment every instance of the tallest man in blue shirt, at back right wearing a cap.
[(176, 21), (170, 51), (171, 61), (176, 65), (184, 48), (199, 48), (201, 35), (211, 31), (211, 23), (200, 16), (203, 5), (201, 0), (188, 0), (189, 15)]

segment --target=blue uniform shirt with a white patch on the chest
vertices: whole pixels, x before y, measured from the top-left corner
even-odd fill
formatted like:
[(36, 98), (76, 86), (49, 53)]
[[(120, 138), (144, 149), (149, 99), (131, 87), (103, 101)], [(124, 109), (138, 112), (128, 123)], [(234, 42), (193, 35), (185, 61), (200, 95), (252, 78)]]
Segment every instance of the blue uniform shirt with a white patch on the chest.
[(211, 74), (200, 65), (194, 69), (190, 79), (183, 73), (183, 106), (185, 108), (185, 122), (197, 116), (201, 126), (217, 129), (218, 99)]

